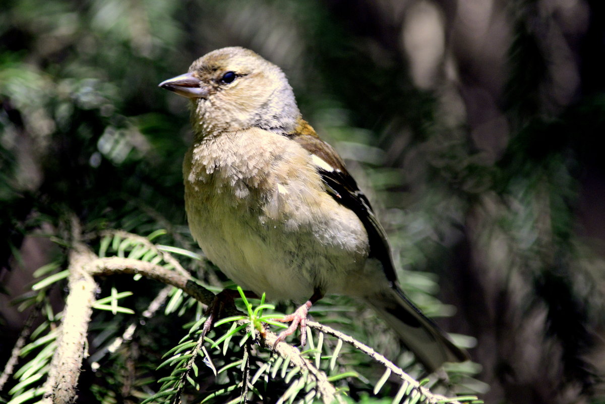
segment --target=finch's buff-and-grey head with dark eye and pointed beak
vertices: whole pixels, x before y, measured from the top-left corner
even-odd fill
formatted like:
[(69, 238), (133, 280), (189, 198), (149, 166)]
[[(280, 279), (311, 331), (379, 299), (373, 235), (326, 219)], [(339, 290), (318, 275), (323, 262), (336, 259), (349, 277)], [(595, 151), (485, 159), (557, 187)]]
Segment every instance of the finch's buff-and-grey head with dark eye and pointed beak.
[(188, 73), (159, 86), (191, 100), (194, 130), (201, 136), (252, 126), (288, 133), (300, 115), (283, 71), (240, 47), (205, 54)]

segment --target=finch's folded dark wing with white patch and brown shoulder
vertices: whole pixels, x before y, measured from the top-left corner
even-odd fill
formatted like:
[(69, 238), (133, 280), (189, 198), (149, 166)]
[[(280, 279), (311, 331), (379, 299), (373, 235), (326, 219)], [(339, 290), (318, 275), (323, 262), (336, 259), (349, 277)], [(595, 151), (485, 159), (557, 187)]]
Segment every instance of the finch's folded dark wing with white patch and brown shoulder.
[(342, 206), (353, 210), (361, 220), (368, 233), (370, 256), (382, 263), (388, 281), (394, 284), (397, 276), (393, 267), (387, 233), (374, 215), (370, 201), (359, 190), (355, 179), (348, 173), (342, 158), (332, 146), (321, 140), (315, 130), (305, 121), (301, 120), (296, 131), (286, 134), (286, 136), (312, 155), (317, 172), (324, 181), (325, 191)]

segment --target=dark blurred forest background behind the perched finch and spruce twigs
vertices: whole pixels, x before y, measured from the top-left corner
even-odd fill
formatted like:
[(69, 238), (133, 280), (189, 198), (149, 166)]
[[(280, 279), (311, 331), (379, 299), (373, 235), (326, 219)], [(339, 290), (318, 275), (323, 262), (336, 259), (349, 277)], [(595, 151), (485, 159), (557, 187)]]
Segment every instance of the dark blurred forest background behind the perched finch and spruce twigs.
[(476, 338), (486, 402), (605, 402), (604, 7), (4, 2), (0, 363), (25, 316), (9, 302), (64, 253), (70, 215), (90, 232), (164, 228), (166, 243), (196, 248), (186, 102), (157, 83), (240, 45), (283, 68), (303, 116), (347, 160), (404, 288)]

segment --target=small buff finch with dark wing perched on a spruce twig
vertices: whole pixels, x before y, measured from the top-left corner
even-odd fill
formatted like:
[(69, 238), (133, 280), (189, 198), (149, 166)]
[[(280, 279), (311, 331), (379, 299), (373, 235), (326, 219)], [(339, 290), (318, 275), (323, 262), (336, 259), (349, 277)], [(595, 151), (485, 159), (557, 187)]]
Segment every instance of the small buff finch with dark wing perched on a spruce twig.
[(370, 201), (280, 67), (226, 47), (159, 86), (190, 100), (185, 210), (201, 250), (246, 290), (304, 302), (278, 342), (300, 327), (304, 346), (309, 308), (334, 293), (373, 308), (429, 372), (468, 359), (402, 292)]

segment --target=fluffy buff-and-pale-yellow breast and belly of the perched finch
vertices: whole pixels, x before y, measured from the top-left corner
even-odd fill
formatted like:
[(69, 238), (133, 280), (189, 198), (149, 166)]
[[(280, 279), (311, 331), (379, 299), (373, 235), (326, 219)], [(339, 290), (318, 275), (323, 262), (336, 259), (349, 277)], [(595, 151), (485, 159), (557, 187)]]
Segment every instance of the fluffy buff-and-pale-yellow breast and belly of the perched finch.
[(324, 191), (309, 153), (262, 129), (204, 138), (183, 163), (189, 227), (234, 282), (269, 298), (343, 292), (362, 271), (359, 218)]

